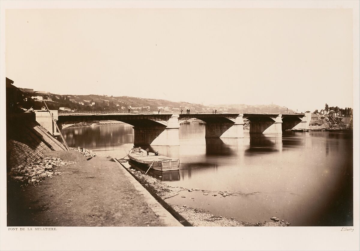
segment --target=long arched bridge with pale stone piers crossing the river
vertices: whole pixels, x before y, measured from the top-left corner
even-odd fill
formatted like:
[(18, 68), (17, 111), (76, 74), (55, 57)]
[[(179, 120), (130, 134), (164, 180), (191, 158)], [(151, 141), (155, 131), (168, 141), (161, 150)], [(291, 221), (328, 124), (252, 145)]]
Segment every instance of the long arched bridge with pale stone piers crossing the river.
[(250, 133), (282, 133), (286, 129), (308, 129), (310, 113), (126, 113), (122, 111), (78, 111), (58, 113), (57, 124), (75, 124), (93, 120), (118, 120), (133, 125), (136, 145), (179, 145), (180, 123), (197, 118), (206, 122), (206, 138), (243, 138), (244, 118), (250, 121)]

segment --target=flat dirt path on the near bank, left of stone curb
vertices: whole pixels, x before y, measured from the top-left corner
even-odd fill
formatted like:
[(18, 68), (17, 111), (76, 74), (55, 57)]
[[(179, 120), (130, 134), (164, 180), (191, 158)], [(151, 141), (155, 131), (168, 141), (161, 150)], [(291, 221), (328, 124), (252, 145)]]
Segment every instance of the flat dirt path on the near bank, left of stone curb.
[(8, 183), (8, 226), (171, 225), (112, 158), (77, 159), (57, 170), (37, 186)]

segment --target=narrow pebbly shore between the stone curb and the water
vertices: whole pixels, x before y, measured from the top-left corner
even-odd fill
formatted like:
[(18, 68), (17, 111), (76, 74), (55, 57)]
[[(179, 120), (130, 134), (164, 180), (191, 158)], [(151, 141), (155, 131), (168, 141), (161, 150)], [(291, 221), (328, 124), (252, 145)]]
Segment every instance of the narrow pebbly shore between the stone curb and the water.
[[(243, 222), (241, 219), (225, 218), (222, 215), (213, 215), (210, 211), (200, 208), (192, 208), (187, 205), (179, 206), (174, 204), (168, 204), (166, 199), (178, 196), (182, 191), (188, 191), (189, 197), (191, 197), (192, 192), (201, 192), (203, 196), (232, 196), (231, 192), (222, 192), (216, 191), (212, 192), (213, 195), (209, 195), (208, 191), (201, 190), (199, 188), (185, 188), (185, 187), (173, 187), (164, 183), (159, 182), (159, 178), (151, 177), (145, 174), (144, 170), (137, 168), (135, 165), (130, 165), (127, 160), (117, 159), (120, 164), (126, 168), (140, 183), (143, 187), (145, 187), (148, 191), (155, 193), (156, 196), (161, 199), (162, 204), (166, 204), (171, 207), (171, 210), (174, 210), (178, 213), (182, 218), (184, 218), (187, 222), (189, 222), (193, 226), (197, 227), (287, 227), (290, 225), (288, 222), (284, 222), (283, 220), (279, 220), (276, 216), (269, 216), (269, 220), (271, 217), (275, 217), (276, 221), (265, 221), (265, 222)], [(185, 197), (185, 196), (184, 196)], [(194, 199), (194, 198), (192, 198)], [(167, 209), (169, 210), (169, 209)]]

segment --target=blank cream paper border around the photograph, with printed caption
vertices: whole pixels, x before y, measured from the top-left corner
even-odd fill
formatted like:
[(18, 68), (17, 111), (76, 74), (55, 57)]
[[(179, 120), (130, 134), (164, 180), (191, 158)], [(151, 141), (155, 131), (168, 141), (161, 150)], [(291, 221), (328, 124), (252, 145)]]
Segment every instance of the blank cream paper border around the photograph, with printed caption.
[[(359, 1), (1, 1), (0, 5), (0, 250), (359, 250)], [(342, 231), (342, 227), (57, 227), (55, 231), (10, 231), (6, 225), (6, 9), (71, 8), (352, 9), (353, 230)]]

